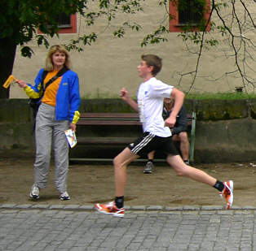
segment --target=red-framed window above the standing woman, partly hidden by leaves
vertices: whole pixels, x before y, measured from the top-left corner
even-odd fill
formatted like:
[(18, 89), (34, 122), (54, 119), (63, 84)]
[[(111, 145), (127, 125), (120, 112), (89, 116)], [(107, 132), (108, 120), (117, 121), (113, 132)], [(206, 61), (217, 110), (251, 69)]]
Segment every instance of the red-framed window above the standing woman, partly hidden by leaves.
[[(56, 17), (58, 22), (59, 33), (76, 33), (77, 32), (77, 15), (65, 15), (64, 13)], [(42, 33), (38, 30), (38, 33)]]

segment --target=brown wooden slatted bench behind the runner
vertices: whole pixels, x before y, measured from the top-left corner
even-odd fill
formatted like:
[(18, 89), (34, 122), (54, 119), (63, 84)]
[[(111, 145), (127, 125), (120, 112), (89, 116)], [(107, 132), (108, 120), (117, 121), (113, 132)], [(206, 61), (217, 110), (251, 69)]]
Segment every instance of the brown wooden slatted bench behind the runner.
[[(77, 122), (77, 132), (81, 127), (100, 126), (102, 130), (106, 126), (115, 126), (118, 130), (118, 135), (121, 135), (123, 127), (136, 127), (142, 133), (142, 125), (139, 122), (137, 113), (82, 113)], [(119, 128), (120, 127), (120, 128)], [(100, 129), (100, 128), (99, 128)], [(194, 161), (194, 145), (196, 132), (196, 113), (188, 114), (188, 136), (190, 140), (189, 160)], [(140, 135), (141, 135), (140, 133)], [(135, 141), (138, 136), (80, 136), (77, 133), (77, 145), (123, 145), (126, 146)], [(77, 146), (76, 146), (77, 147)], [(109, 147), (109, 146), (108, 146)], [(98, 158), (70, 158), (70, 161), (106, 161), (110, 159)]]

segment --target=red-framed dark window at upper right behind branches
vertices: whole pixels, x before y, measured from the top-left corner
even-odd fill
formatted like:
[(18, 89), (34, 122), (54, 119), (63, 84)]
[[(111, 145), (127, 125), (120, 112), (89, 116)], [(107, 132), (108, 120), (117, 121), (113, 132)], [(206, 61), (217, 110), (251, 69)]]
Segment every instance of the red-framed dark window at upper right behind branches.
[[(202, 4), (200, 4), (202, 3)], [(172, 0), (169, 4), (169, 30), (170, 32), (182, 32), (184, 26), (191, 26), (196, 30), (196, 25), (210, 17), (210, 0)], [(206, 31), (210, 31), (210, 24)]]

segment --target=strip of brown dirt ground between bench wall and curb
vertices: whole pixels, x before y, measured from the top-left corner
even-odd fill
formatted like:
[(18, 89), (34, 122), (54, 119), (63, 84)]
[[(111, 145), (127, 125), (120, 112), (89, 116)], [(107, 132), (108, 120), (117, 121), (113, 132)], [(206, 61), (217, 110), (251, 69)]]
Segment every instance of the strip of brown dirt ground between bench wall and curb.
[[(196, 165), (218, 178), (234, 181), (234, 206), (256, 206), (256, 163)], [(53, 183), (51, 165), (48, 186), (36, 203), (91, 205), (112, 201), (114, 196), (111, 165), (76, 164), (69, 167), (70, 201), (60, 201)], [(33, 204), (28, 197), (33, 183), (33, 159), (0, 159), (0, 204)], [(127, 168), (126, 206), (223, 206), (217, 190), (188, 178), (178, 177), (163, 164), (151, 175), (143, 174), (143, 165)]]

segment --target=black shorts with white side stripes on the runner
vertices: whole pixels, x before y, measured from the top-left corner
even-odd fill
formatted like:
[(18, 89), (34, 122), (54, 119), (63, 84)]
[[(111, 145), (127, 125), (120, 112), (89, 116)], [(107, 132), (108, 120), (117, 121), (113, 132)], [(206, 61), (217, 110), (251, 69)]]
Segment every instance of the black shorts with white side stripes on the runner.
[(128, 148), (139, 156), (147, 156), (153, 150), (162, 151), (166, 155), (179, 155), (179, 151), (175, 148), (171, 136), (161, 137), (150, 132), (144, 132), (143, 136), (128, 145)]

